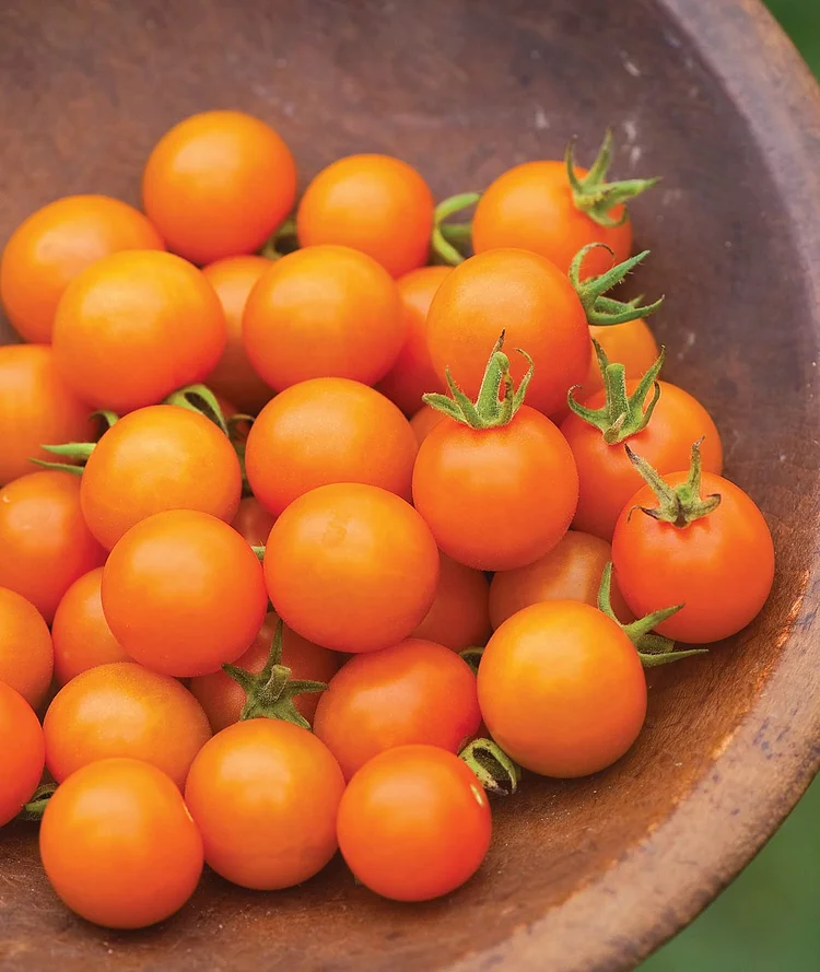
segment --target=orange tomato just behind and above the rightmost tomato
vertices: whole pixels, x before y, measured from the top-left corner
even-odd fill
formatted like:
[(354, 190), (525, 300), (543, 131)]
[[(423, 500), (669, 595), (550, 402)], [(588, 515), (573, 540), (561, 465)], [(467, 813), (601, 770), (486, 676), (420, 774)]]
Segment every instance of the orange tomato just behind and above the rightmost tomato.
[[(658, 472), (671, 472), (688, 467), (692, 443), (705, 436), (701, 449), (703, 468), (719, 472), (723, 446), (710, 413), (677, 385), (658, 384), (660, 398), (652, 419), (643, 432), (626, 440), (630, 448)], [(632, 395), (636, 386), (635, 379), (626, 382), (628, 394)], [(584, 405), (590, 409), (604, 403), (602, 391), (584, 399)], [(570, 443), (578, 469), (578, 508), (572, 525), (576, 530), (611, 540), (621, 510), (641, 488), (643, 479), (630, 462), (622, 442), (609, 445), (599, 429), (578, 415), (569, 415), (561, 423), (561, 431)]]

